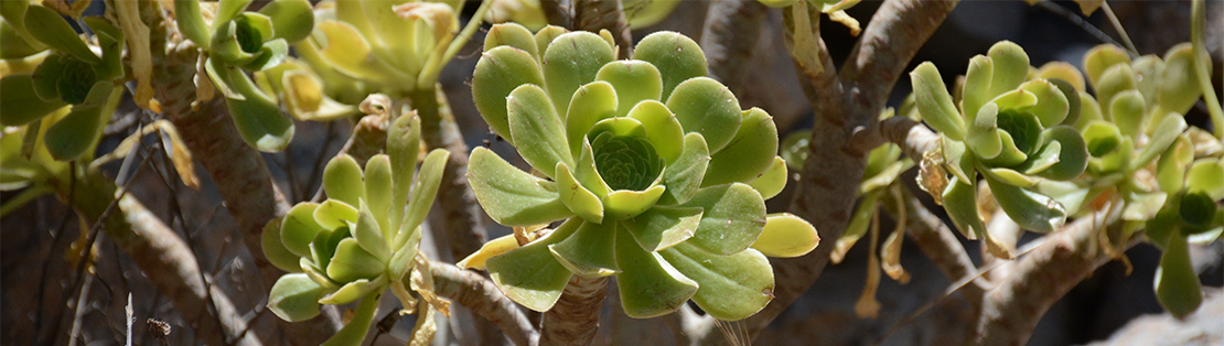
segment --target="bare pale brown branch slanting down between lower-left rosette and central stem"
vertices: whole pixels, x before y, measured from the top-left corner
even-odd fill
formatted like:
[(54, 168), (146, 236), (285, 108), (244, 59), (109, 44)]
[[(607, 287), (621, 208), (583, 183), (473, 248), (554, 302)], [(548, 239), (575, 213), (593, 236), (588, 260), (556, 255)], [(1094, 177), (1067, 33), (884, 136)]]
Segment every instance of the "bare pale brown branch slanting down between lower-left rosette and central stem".
[(441, 262), (430, 263), (430, 274), (433, 275), (435, 293), (468, 307), (493, 323), (514, 345), (539, 344), (540, 333), (526, 314), (485, 276)]

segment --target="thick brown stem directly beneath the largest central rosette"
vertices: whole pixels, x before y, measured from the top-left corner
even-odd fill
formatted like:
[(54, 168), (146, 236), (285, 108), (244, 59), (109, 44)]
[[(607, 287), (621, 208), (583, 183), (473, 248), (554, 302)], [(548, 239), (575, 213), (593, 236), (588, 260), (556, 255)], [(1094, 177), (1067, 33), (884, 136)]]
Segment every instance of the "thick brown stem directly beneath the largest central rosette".
[(600, 311), (607, 295), (608, 278), (574, 275), (552, 309), (540, 323), (540, 345), (591, 345), (600, 325)]

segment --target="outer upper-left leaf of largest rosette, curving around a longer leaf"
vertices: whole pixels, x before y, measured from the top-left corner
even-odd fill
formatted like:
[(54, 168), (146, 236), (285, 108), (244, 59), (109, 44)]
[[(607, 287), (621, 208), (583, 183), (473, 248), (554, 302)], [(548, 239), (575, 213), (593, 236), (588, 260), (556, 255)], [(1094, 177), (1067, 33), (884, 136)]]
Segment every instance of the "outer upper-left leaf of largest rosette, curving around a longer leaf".
[[(513, 46), (485, 51), (471, 77), (471, 98), (480, 116), (497, 134), (512, 144), (510, 121), (506, 97), (521, 84), (545, 86), (543, 72), (531, 54)], [(568, 99), (570, 95), (565, 95)]]

